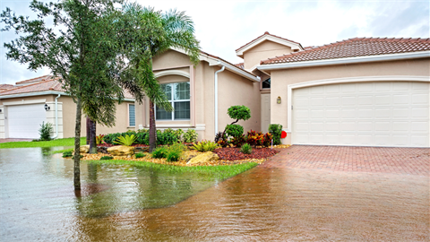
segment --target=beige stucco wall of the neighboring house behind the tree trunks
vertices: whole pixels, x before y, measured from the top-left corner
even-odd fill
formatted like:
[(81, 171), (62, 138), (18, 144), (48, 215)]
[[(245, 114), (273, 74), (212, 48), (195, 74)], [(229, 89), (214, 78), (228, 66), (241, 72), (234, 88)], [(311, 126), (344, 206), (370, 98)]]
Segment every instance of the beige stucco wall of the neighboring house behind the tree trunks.
[[(63, 127), (64, 127), (64, 138), (74, 137), (74, 127), (76, 122), (76, 105), (73, 99), (68, 96), (62, 96), (58, 99), (63, 103)], [(116, 125), (114, 127), (107, 127), (104, 125), (96, 126), (96, 134), (110, 134), (116, 132), (126, 132), (134, 127), (128, 126), (128, 106), (127, 104), (133, 104), (133, 102), (125, 101), (120, 105), (116, 104)], [(81, 136), (86, 136), (86, 117), (82, 115), (81, 121)]]

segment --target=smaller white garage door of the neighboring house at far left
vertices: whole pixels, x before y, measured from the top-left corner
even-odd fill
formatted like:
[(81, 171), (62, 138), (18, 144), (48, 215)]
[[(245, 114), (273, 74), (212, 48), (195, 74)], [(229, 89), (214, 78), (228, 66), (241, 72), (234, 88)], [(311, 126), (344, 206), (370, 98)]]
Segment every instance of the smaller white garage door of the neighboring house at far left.
[(7, 126), (10, 138), (40, 137), (42, 122), (47, 122), (44, 104), (16, 105), (7, 107)]

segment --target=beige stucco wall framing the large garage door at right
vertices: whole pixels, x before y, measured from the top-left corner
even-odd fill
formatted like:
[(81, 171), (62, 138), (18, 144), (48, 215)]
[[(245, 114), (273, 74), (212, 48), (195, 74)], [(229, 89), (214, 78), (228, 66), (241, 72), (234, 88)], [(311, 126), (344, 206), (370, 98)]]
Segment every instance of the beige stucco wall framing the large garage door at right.
[[(329, 65), (308, 68), (296, 68), (271, 71), (271, 123), (288, 128), (288, 85), (300, 82), (311, 82), (324, 79), (387, 76), (387, 75), (417, 75), (429, 76), (430, 58), (402, 60), (378, 63), (351, 65)], [(276, 103), (280, 96), (281, 104)], [(291, 143), (288, 135), (284, 143)]]

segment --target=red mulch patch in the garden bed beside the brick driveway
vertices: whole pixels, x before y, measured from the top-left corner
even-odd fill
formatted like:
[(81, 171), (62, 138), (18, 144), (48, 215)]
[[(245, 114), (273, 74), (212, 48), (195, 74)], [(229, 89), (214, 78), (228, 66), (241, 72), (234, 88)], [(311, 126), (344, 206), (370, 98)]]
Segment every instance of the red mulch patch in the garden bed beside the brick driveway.
[(245, 160), (245, 159), (265, 159), (277, 154), (280, 151), (271, 148), (254, 148), (251, 154), (244, 154), (240, 148), (222, 148), (213, 151), (217, 153), (220, 160)]

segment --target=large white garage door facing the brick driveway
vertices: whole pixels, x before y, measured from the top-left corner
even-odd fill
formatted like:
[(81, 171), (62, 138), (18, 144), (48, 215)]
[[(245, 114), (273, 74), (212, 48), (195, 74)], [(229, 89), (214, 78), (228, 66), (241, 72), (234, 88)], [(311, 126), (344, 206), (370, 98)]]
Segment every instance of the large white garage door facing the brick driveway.
[(429, 147), (427, 82), (358, 82), (293, 91), (292, 142)]

